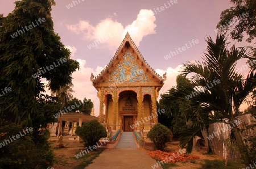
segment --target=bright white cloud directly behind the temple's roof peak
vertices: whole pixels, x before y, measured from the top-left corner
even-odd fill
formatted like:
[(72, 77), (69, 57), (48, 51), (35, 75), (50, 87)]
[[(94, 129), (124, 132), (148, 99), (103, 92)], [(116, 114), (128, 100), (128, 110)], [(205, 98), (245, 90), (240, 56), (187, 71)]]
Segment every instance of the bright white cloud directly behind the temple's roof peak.
[[(117, 16), (115, 13), (113, 15)], [(94, 43), (97, 47), (110, 47), (112, 50), (118, 47), (127, 31), (129, 31), (135, 44), (139, 46), (144, 36), (156, 33), (155, 20), (153, 11), (142, 9), (139, 11), (137, 19), (126, 27), (112, 18), (106, 18), (96, 26), (92, 26), (89, 20), (79, 20), (79, 23), (67, 25), (67, 28), (77, 35), (83, 35), (84, 39), (92, 41), (92, 44)]]

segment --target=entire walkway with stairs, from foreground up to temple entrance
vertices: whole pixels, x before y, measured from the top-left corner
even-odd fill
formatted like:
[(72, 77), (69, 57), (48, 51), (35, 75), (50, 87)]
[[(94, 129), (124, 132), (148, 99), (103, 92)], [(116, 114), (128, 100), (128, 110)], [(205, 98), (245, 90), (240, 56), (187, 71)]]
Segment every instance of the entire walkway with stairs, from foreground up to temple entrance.
[(133, 132), (123, 132), (115, 149), (103, 151), (86, 169), (150, 169), (156, 163), (146, 150), (137, 149)]

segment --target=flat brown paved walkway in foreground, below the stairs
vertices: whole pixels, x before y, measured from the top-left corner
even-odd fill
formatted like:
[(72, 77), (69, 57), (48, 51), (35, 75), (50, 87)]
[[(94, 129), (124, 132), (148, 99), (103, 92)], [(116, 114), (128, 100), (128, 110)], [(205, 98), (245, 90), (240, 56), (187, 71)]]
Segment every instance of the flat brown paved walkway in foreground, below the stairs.
[(85, 169), (150, 169), (156, 163), (147, 155), (146, 150), (114, 149), (103, 151)]

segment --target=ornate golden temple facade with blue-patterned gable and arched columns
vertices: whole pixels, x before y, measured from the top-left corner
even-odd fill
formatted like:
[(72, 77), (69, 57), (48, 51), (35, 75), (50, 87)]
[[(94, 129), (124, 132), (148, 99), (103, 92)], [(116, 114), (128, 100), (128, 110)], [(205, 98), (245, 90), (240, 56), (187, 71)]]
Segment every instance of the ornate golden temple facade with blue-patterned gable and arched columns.
[(160, 77), (147, 64), (129, 33), (105, 69), (90, 80), (100, 99), (99, 121), (106, 128), (133, 132), (137, 124), (137, 130), (148, 131), (158, 123), (156, 99), (166, 73)]

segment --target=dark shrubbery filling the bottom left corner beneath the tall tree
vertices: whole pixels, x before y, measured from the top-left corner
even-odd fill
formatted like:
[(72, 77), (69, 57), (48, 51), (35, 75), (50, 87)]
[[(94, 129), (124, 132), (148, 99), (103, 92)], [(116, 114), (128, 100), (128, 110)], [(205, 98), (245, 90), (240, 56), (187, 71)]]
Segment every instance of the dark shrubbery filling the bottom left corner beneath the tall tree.
[[(22, 132), (22, 125), (5, 124), (0, 126), (0, 133), (6, 133), (5, 136), (0, 136), (0, 143), (5, 140), (10, 140), (10, 137), (16, 136)], [(32, 135), (26, 134), (23, 137), (16, 138), (13, 142), (0, 148), (0, 168), (47, 168), (47, 162), (52, 164), (53, 151), (49, 144), (35, 143)], [(10, 137), (9, 137), (10, 136)], [(22, 135), (21, 135), (22, 136)], [(46, 141), (46, 137), (41, 132), (39, 136), (41, 141)]]

